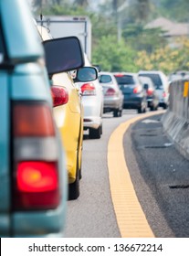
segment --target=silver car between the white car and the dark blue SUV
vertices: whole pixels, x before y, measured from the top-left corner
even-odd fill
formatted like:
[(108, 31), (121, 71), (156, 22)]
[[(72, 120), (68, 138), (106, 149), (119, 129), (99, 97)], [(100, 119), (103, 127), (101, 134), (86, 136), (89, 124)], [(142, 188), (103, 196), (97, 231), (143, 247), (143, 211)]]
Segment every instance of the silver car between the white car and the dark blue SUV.
[(117, 80), (110, 72), (100, 72), (99, 80), (104, 94), (103, 112), (113, 112), (113, 117), (121, 116), (124, 97)]

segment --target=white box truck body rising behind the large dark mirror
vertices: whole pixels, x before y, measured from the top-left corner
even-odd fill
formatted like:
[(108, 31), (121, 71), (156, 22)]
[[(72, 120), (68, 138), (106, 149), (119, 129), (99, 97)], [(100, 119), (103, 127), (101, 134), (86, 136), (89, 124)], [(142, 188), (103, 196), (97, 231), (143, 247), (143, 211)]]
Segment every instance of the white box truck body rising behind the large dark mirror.
[(83, 51), (91, 60), (91, 22), (88, 16), (44, 16), (37, 23), (48, 27), (53, 37), (79, 37)]

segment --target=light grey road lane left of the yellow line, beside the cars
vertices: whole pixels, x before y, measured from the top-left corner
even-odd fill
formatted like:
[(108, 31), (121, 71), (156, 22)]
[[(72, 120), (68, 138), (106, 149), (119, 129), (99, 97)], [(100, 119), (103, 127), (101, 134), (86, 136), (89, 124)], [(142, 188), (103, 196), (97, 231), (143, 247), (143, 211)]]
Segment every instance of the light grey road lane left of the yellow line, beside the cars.
[(65, 237), (121, 237), (110, 196), (107, 147), (116, 127), (136, 115), (135, 111), (124, 111), (119, 118), (104, 114), (101, 139), (91, 140), (84, 136), (80, 196), (68, 201)]

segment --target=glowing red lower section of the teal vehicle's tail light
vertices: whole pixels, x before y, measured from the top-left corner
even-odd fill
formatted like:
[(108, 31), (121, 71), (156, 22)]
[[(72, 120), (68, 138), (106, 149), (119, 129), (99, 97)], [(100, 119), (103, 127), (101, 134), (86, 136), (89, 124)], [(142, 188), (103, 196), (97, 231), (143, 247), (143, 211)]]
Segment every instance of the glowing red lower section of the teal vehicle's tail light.
[(16, 209), (57, 208), (59, 203), (56, 163), (21, 162), (16, 168)]

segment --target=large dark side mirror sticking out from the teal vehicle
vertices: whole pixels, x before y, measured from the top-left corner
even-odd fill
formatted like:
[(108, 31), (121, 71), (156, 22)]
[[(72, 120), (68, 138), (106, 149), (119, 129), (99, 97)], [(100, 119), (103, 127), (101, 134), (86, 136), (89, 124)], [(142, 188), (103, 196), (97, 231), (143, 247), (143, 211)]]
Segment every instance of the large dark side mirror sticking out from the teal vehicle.
[(49, 76), (79, 69), (84, 65), (83, 51), (78, 37), (61, 37), (43, 41)]

